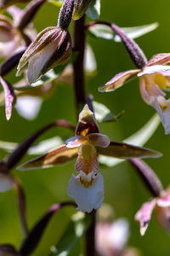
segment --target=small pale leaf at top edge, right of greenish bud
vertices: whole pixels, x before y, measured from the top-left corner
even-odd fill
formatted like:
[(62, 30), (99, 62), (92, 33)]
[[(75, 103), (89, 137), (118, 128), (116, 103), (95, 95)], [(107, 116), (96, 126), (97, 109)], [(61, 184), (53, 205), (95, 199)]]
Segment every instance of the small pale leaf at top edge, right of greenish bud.
[(100, 15), (100, 6), (100, 0), (93, 0), (93, 2), (88, 7), (88, 10), (86, 11), (88, 17), (92, 20), (98, 20)]

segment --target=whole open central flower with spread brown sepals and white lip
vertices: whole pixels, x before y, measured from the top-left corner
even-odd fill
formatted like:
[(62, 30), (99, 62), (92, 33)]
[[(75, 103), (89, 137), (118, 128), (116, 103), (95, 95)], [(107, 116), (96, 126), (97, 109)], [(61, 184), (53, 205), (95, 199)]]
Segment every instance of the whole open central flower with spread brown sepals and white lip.
[(64, 145), (47, 154), (29, 160), (18, 169), (24, 171), (47, 168), (77, 158), (75, 169), (78, 175), (72, 174), (67, 189), (68, 195), (75, 199), (77, 210), (91, 212), (99, 208), (104, 199), (104, 181), (99, 172), (99, 154), (123, 159), (161, 156), (148, 148), (111, 142), (109, 137), (99, 133), (94, 113), (88, 105), (85, 105), (79, 114), (75, 137), (71, 137)]

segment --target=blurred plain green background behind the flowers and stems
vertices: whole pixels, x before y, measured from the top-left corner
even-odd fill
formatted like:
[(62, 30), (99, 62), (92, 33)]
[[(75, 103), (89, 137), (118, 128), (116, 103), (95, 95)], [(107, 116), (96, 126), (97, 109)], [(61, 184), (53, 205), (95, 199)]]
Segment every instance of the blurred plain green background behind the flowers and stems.
[[(101, 3), (100, 20), (113, 21), (118, 26), (139, 26), (158, 21), (160, 26), (156, 31), (136, 41), (148, 58), (157, 53), (169, 52), (169, 0), (105, 0)], [(58, 9), (46, 3), (35, 18), (37, 31), (47, 26), (55, 26), (57, 17)], [(122, 44), (89, 37), (88, 42), (94, 49), (98, 63), (97, 75), (87, 80), (88, 93), (93, 94), (95, 101), (104, 103), (113, 113), (123, 109), (126, 111), (119, 122), (100, 125), (101, 132), (107, 134), (112, 140), (122, 141), (139, 130), (155, 111), (142, 101), (137, 79), (116, 92), (104, 94), (98, 92), (99, 85), (104, 84), (116, 73), (133, 68), (133, 63), (129, 60)], [(0, 108), (0, 113), (0, 140), (11, 142), (21, 142), (33, 131), (54, 119), (67, 119), (73, 124), (76, 122), (74, 94), (71, 86), (65, 84), (57, 84), (55, 94), (43, 103), (41, 112), (33, 121), (21, 118), (14, 110), (12, 119), (7, 122), (4, 108)], [(48, 131), (41, 139), (56, 135), (71, 136), (68, 131), (55, 128), (53, 131)], [(161, 178), (165, 188), (170, 183), (169, 145), (170, 135), (164, 135), (161, 125), (146, 144), (147, 147), (163, 153), (161, 159), (147, 160), (147, 163)], [(3, 159), (5, 154), (3, 150), (0, 151), (0, 159)], [(68, 199), (66, 188), (71, 173), (74, 172), (74, 164), (75, 162), (72, 162), (66, 166), (31, 172), (14, 170), (14, 174), (20, 177), (26, 190), (27, 218), (30, 227), (51, 204)], [(130, 222), (131, 236), (128, 245), (139, 247), (144, 256), (169, 256), (170, 236), (156, 223), (155, 216), (151, 219), (145, 236), (139, 235), (139, 225), (134, 222), (133, 217), (141, 204), (150, 198), (150, 194), (132, 167), (122, 163), (114, 168), (102, 167), (100, 171), (105, 180), (105, 202), (110, 203), (115, 209), (116, 218), (126, 217)], [(13, 243), (19, 247), (22, 236), (13, 190), (0, 194), (0, 207), (0, 243)], [(74, 212), (72, 209), (64, 209), (54, 216), (39, 247), (33, 253), (34, 256), (48, 255), (49, 247), (59, 240), (72, 212)]]

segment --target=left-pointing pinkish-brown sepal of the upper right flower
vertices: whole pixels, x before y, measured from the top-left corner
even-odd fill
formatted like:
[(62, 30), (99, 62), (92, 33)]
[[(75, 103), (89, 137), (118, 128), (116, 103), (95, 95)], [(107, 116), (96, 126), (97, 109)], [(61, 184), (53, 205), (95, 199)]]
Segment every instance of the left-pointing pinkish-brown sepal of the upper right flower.
[(99, 91), (112, 91), (126, 84), (128, 81), (135, 79), (140, 69), (132, 69), (122, 73), (116, 74), (116, 76), (107, 82), (105, 85), (99, 87)]

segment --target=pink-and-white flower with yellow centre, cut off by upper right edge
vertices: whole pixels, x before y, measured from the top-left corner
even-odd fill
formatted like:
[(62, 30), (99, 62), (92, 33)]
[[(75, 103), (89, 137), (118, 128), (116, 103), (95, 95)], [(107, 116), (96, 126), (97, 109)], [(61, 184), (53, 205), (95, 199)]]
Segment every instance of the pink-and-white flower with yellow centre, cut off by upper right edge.
[(123, 84), (139, 77), (140, 94), (147, 104), (156, 109), (164, 126), (165, 133), (170, 133), (170, 99), (166, 99), (166, 93), (170, 87), (170, 54), (154, 55), (141, 69), (128, 70), (116, 74), (107, 84), (101, 86), (99, 91), (112, 91)]

